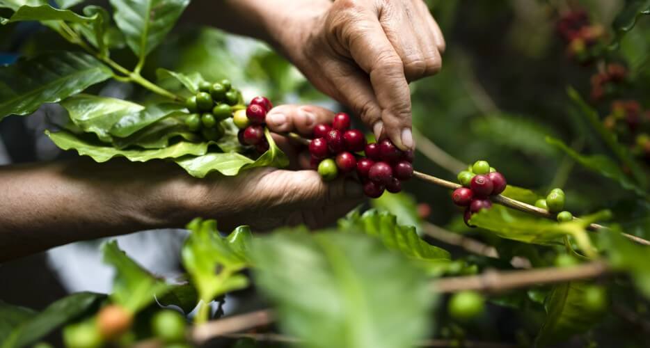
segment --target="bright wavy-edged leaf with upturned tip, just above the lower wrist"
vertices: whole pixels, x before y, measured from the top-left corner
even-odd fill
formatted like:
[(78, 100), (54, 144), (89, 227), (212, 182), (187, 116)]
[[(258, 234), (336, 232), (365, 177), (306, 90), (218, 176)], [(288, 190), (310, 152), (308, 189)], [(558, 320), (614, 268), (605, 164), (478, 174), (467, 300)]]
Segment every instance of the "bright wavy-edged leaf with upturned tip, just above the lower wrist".
[(175, 159), (179, 166), (193, 177), (205, 177), (205, 175), (216, 171), (226, 176), (237, 175), (240, 171), (257, 167), (283, 168), (289, 165), (289, 159), (278, 148), (269, 133), (264, 129), (264, 135), (269, 141), (269, 150), (264, 152), (255, 161), (237, 152), (209, 153), (198, 157), (180, 157)]

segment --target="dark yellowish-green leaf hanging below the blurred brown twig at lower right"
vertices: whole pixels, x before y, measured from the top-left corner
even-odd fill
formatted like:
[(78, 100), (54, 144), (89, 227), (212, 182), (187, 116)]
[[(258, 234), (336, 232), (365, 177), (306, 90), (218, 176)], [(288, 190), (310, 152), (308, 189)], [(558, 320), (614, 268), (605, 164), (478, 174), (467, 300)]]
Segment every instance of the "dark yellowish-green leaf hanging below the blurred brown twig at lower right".
[(583, 333), (603, 319), (604, 311), (594, 313), (585, 303), (589, 283), (570, 282), (555, 285), (546, 299), (546, 320), (535, 345), (545, 347)]

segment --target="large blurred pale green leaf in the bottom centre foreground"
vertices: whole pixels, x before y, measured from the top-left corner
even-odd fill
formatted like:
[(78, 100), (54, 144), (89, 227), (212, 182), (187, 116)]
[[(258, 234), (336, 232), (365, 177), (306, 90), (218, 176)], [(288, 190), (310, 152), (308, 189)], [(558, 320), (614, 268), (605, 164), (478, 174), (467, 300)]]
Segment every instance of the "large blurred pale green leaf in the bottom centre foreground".
[(304, 347), (412, 347), (432, 328), (427, 277), (374, 238), (285, 230), (251, 255), (280, 328)]

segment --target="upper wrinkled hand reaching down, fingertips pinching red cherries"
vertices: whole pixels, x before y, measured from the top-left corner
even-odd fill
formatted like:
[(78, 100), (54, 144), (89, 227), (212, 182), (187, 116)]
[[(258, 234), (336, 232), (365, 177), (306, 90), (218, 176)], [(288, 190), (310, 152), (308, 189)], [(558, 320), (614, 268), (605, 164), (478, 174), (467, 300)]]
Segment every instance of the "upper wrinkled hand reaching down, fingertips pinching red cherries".
[[(270, 35), (319, 90), (377, 137), (413, 148), (409, 81), (435, 74), (445, 40), (422, 0), (264, 2)], [(273, 12), (269, 8), (280, 8)]]

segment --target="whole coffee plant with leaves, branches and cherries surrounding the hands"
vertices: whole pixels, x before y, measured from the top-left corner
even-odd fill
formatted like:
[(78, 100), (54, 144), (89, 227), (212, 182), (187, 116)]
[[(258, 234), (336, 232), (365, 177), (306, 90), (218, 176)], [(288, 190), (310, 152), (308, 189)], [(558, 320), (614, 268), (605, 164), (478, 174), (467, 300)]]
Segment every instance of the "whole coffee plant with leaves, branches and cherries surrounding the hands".
[[(288, 166), (274, 141), (287, 136), (310, 152), (322, 180), (358, 180), (372, 207), (325, 230), (269, 234), (220, 231), (197, 217), (187, 224), (180, 280), (155, 276), (105, 242), (103, 260), (115, 269), (111, 294), (70, 294), (38, 312), (0, 299), (0, 347), (50, 347), (53, 336), (73, 348), (647, 347), (649, 1), (625, 1), (611, 28), (575, 1), (530, 1), (553, 28), (548, 45), (576, 71), (575, 81), (562, 83), (576, 87), (561, 106), (546, 103), (557, 90), (503, 90), (528, 93), (526, 102), (561, 117), (501, 111), (477, 77), (461, 76), (473, 73), (463, 56), (447, 56), (438, 77), (413, 86), (417, 160), (354, 128), (344, 112), (315, 125), (309, 139), (271, 134), (265, 117), (274, 104), (292, 93), (316, 95), (287, 62), (266, 52), (242, 73), (221, 45), (221, 56), (209, 59), (225, 74), (202, 68), (205, 57), (183, 72), (164, 68), (173, 64), (159, 52), (184, 41), (171, 31), (189, 0), (109, 2), (0, 0), (0, 37), (19, 22), (49, 33), (0, 68), (0, 120), (57, 104), (63, 117), (45, 132), (62, 150), (100, 163), (171, 161), (216, 180)], [(461, 2), (429, 4), (443, 28), (452, 16), (498, 17), (486, 6), (508, 6)], [(51, 33), (64, 40), (54, 51)], [(485, 73), (505, 71), (493, 68)], [(502, 83), (512, 84), (505, 75)], [(248, 95), (235, 82), (247, 79), (262, 80), (266, 91)], [(110, 84), (135, 92), (99, 93)], [(261, 309), (223, 315), (224, 301), (251, 289)]]

